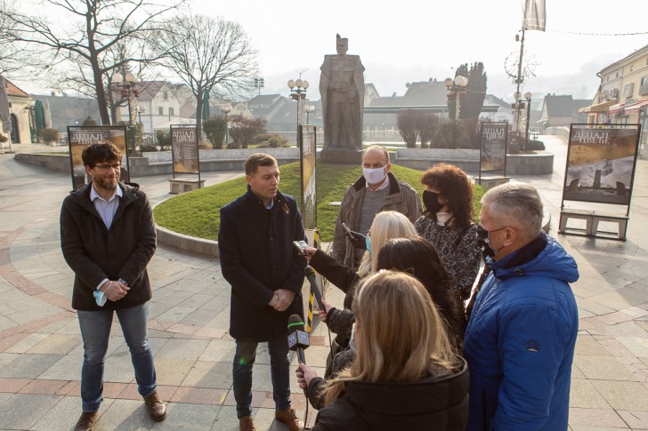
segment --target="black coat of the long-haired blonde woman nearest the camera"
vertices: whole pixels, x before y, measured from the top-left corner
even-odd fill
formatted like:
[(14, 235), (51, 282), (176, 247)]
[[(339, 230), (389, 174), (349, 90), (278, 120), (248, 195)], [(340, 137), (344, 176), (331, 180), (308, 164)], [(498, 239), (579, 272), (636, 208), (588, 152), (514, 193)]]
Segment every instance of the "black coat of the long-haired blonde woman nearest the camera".
[(468, 368), (415, 383), (349, 382), (342, 398), (317, 415), (312, 431), (463, 431)]

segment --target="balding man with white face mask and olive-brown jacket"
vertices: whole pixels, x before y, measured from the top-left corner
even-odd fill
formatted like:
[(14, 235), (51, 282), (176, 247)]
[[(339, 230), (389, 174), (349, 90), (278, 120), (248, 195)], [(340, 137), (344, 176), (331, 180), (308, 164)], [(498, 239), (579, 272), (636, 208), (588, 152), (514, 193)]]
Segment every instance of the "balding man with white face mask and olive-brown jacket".
[(364, 252), (364, 242), (353, 242), (345, 235), (342, 223), (352, 231), (367, 235), (378, 212), (401, 212), (412, 223), (423, 212), (418, 192), (408, 183), (397, 180), (391, 169), (389, 153), (384, 147), (372, 145), (365, 149), (362, 176), (346, 189), (337, 213), (332, 256), (341, 265), (357, 269)]

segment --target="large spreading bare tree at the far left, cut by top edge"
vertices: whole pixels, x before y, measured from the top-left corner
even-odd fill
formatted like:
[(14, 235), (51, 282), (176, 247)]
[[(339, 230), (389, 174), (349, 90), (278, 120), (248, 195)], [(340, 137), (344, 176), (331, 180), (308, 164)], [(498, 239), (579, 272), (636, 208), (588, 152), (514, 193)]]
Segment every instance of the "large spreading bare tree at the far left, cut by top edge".
[[(175, 3), (177, 1), (177, 3)], [(114, 71), (121, 71), (129, 62), (147, 63), (147, 55), (126, 52), (120, 58), (120, 46), (141, 46), (158, 30), (158, 20), (165, 12), (176, 9), (181, 0), (160, 6), (149, 0), (45, 0), (45, 7), (66, 14), (64, 26), (50, 23), (35, 15), (14, 12), (4, 14), (14, 31), (6, 36), (8, 42), (38, 46), (50, 53), (53, 60), (77, 65), (72, 81), (93, 89), (99, 104), (101, 123), (110, 124), (106, 89)]]

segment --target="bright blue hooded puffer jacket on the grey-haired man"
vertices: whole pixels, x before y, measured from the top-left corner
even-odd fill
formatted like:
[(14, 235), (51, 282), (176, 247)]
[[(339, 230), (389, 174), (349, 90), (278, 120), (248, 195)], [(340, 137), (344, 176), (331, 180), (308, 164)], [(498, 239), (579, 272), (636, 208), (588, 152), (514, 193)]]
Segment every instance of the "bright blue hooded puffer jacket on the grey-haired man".
[[(525, 263), (522, 248), (491, 264), (466, 329), (466, 430), (567, 429), (579, 315), (576, 261), (554, 238)], [(536, 240), (538, 241), (538, 240)]]

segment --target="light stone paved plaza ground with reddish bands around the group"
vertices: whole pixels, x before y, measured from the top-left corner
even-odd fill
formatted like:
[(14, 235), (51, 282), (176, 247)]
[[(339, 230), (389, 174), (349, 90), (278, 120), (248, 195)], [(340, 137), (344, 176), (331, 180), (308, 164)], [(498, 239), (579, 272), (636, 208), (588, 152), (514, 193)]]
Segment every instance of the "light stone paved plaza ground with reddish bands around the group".
[[(565, 144), (547, 137), (553, 175), (516, 177), (539, 188), (552, 216), (560, 210)], [(18, 152), (35, 147), (14, 148)], [(44, 149), (44, 148), (39, 148)], [(207, 186), (239, 172), (203, 175)], [(137, 179), (153, 203), (168, 197), (166, 176)], [(72, 272), (59, 242), (61, 201), (68, 175), (0, 155), (0, 429), (71, 429), (80, 411), (83, 348), (69, 307)], [(574, 431), (648, 429), (648, 162), (637, 164), (628, 241), (558, 235), (579, 262), (580, 332), (574, 360), (570, 425)], [(113, 326), (105, 374), (105, 402), (95, 429), (235, 430), (231, 393), (234, 343), (227, 333), (230, 288), (215, 259), (158, 246), (150, 264), (150, 343), (159, 393), (168, 417), (154, 423), (134, 384), (127, 347)], [(342, 302), (336, 289), (328, 293)], [(317, 325), (306, 356), (321, 367), (328, 336)], [(296, 358), (293, 358), (295, 363)], [(286, 429), (273, 421), (269, 358), (257, 355), (254, 406), (257, 429)], [(304, 396), (291, 384), (304, 415)]]

